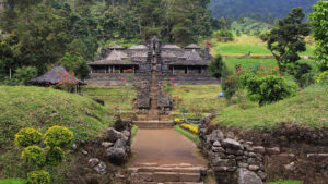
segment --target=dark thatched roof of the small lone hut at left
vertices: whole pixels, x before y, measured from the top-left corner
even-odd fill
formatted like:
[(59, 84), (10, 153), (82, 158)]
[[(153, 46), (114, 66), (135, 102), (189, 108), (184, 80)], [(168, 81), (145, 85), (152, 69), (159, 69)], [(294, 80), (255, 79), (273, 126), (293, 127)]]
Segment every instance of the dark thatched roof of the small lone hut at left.
[(58, 84), (59, 82), (63, 82), (66, 77), (69, 78), (70, 82), (75, 82), (77, 84), (84, 85), (82, 81), (78, 79), (77, 77), (72, 76), (66, 69), (61, 65), (57, 65), (52, 68), (50, 71), (45, 73), (44, 75), (30, 79), (28, 84), (39, 85), (39, 84)]

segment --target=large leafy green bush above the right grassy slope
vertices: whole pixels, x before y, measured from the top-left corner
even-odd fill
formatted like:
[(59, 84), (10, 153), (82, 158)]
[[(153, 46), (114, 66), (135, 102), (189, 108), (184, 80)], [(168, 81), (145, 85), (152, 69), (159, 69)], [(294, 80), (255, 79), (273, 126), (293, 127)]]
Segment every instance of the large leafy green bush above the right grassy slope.
[(255, 100), (259, 100), (259, 105), (271, 103), (282, 100), (286, 97), (294, 96), (297, 86), (288, 84), (282, 76), (245, 76), (242, 79), (250, 95)]

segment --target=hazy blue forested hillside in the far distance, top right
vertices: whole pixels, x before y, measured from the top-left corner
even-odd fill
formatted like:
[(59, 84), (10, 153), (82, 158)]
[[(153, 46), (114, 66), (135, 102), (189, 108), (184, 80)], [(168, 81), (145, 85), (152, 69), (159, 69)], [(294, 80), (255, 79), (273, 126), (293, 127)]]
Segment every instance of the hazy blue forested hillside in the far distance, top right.
[(237, 20), (244, 16), (272, 23), (274, 19), (286, 16), (295, 7), (302, 7), (308, 13), (316, 1), (318, 0), (213, 0), (209, 8), (216, 19)]

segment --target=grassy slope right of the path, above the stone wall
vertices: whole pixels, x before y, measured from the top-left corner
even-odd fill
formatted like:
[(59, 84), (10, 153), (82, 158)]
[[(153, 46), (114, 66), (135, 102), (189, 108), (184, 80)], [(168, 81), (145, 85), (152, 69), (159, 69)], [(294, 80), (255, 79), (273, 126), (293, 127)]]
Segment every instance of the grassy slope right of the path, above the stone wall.
[(328, 127), (328, 93), (325, 86), (313, 85), (272, 105), (241, 109), (232, 105), (223, 109), (215, 121), (221, 126), (270, 128), (285, 122), (300, 126)]

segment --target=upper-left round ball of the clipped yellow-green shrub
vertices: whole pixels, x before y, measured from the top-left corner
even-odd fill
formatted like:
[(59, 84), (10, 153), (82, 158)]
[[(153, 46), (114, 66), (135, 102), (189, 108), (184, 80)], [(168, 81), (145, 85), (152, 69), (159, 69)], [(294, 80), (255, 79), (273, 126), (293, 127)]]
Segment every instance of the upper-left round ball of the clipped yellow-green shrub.
[(15, 144), (17, 146), (27, 147), (40, 143), (42, 137), (42, 133), (39, 133), (38, 131), (31, 127), (26, 127), (21, 130), (15, 135)]

